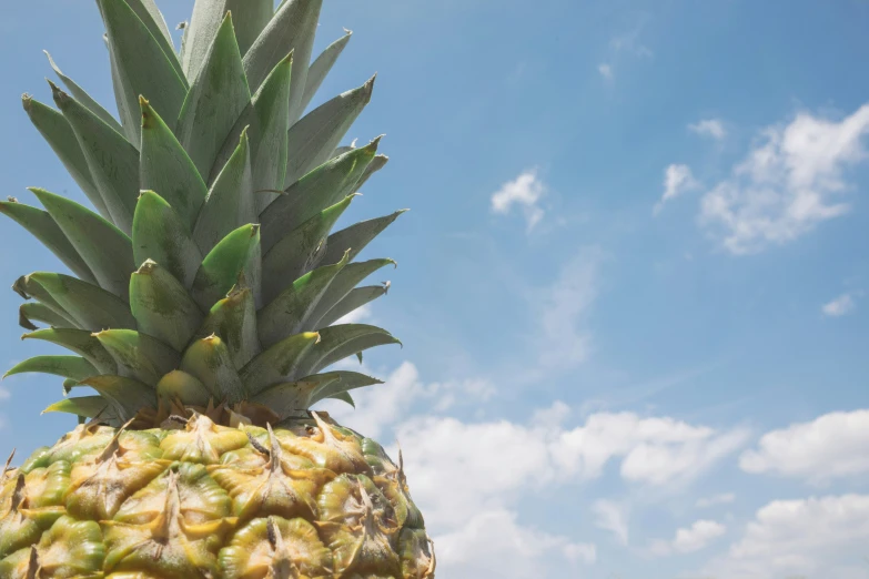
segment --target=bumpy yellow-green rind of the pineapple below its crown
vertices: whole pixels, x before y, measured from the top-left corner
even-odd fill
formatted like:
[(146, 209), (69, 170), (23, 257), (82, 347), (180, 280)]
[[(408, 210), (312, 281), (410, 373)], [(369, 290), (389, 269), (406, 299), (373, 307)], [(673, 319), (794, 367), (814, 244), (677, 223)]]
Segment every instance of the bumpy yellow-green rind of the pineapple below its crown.
[[(404, 473), (327, 418), (81, 425), (0, 477), (0, 579), (433, 579)], [(34, 572), (39, 570), (39, 572)]]

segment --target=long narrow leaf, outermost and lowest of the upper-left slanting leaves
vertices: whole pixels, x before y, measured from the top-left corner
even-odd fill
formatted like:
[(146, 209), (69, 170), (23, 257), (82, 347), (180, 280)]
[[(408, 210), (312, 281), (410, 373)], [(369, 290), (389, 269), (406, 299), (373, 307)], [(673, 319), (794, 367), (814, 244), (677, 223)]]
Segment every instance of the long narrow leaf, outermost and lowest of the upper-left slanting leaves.
[(51, 106), (33, 100), (29, 94), (24, 94), (21, 100), (24, 111), (27, 111), (30, 122), (46, 139), (51, 150), (58, 155), (60, 162), (67, 167), (70, 176), (75, 181), (79, 187), (84, 192), (97, 211), (105, 219), (111, 219), (105, 203), (102, 201), (99, 187), (91, 177), (91, 170), (88, 166), (88, 160), (81, 152), (81, 145), (75, 138), (75, 133), (70, 126), (69, 121)]

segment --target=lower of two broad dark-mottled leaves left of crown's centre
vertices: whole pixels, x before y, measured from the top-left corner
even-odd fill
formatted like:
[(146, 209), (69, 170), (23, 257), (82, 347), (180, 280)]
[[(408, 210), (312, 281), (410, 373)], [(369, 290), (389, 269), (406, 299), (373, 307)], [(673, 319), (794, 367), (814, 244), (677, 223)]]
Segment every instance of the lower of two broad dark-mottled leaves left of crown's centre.
[(139, 329), (182, 352), (204, 318), (184, 286), (148, 260), (130, 278), (130, 308)]

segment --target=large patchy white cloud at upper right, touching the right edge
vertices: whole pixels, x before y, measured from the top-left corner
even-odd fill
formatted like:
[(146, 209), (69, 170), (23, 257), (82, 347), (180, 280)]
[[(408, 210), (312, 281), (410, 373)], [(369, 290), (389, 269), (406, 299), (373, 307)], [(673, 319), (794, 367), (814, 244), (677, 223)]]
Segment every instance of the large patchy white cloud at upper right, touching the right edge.
[(869, 104), (839, 122), (798, 114), (760, 141), (701, 202), (700, 223), (734, 254), (782, 245), (849, 211), (843, 172), (867, 159)]

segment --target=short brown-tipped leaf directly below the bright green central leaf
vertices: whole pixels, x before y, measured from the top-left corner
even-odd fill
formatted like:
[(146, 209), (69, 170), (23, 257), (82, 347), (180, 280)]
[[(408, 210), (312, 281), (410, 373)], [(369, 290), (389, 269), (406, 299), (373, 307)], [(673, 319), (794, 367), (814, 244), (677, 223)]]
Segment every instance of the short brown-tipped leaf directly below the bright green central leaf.
[(256, 306), (251, 288), (233, 287), (226, 297), (214, 304), (195, 335), (219, 336), (226, 345), (236, 368), (247, 364), (262, 352), (256, 335)]

